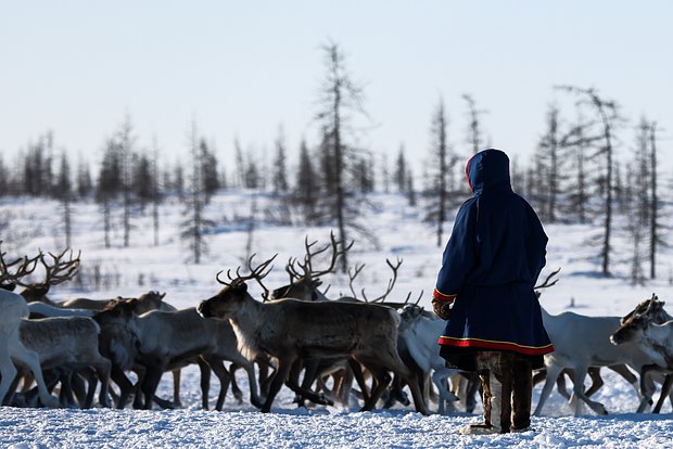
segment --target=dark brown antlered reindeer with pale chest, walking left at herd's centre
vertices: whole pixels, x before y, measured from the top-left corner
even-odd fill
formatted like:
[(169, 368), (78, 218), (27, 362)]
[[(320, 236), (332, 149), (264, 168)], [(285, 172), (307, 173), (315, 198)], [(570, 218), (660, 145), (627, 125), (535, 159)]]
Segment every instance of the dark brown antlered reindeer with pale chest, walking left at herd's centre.
[[(254, 255), (253, 255), (254, 256)], [(261, 303), (247, 293), (245, 281), (262, 280), (268, 274), (268, 266), (276, 256), (252, 267), (247, 275), (236, 278), (228, 271), (229, 281), (216, 280), (224, 285), (215, 296), (199, 305), (203, 317), (229, 319), (239, 345), (249, 360), (261, 351), (278, 360), (278, 369), (271, 381), (269, 394), (262, 407), (269, 412), (280, 387), (289, 381), (295, 393), (319, 401), (313, 392), (301, 388), (292, 379), (290, 370), (294, 362), (310, 357), (353, 357), (373, 375), (376, 386), (363, 410), (372, 410), (390, 383), (389, 371), (401, 373), (408, 380), (416, 410), (427, 414), (420, 388), (415, 375), (397, 355), (397, 326), (399, 316), (390, 308), (378, 305), (339, 302), (306, 303), (297, 299), (280, 299)], [(268, 269), (268, 270), (267, 270)]]

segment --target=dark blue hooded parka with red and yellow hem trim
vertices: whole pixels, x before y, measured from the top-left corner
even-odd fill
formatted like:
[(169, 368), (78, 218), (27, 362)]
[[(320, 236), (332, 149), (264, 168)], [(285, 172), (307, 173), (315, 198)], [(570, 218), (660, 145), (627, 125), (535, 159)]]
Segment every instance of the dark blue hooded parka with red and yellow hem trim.
[(509, 158), (495, 149), (466, 166), (473, 196), (456, 216), (434, 296), (455, 303), (441, 354), (473, 371), (478, 350), (529, 356), (541, 368), (554, 350), (533, 291), (545, 266), (547, 235), (533, 208), (511, 190)]

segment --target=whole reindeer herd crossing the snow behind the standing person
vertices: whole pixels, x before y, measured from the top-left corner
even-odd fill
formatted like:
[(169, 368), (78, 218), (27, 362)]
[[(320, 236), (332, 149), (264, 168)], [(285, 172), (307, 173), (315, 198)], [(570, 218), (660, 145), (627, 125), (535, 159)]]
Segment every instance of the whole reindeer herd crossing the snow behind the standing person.
[[(73, 279), (79, 255), (66, 249), (5, 260), (0, 251), (2, 405), (89, 408), (98, 393), (101, 407), (180, 407), (181, 369), (196, 364), (204, 409), (211, 408), (213, 373), (219, 384), (216, 410), (223, 409), (229, 387), (242, 400), (234, 374), (243, 369), (250, 403), (263, 412), (271, 411), (283, 386), (294, 392), (300, 405), (340, 403), (350, 409), (357, 403), (361, 410), (395, 401), (409, 405), (406, 387), (419, 413), (434, 411), (435, 402), (440, 413), (457, 410), (458, 403), (472, 412), (479, 379), (446, 368), (436, 344), (444, 321), (419, 307), (418, 300), (410, 302), (410, 295), (402, 303), (385, 300), (402, 260), (386, 260), (393, 277), (378, 298), (368, 299), (364, 290), (357, 295), (353, 287), (363, 266), (350, 271), (352, 296), (328, 298), (319, 290), (320, 278), (334, 271), (353, 243), (336, 241), (332, 234), (330, 243), (316, 244), (306, 240), (303, 260), (288, 261), (290, 283), (284, 286), (269, 290), (263, 282), (276, 256), (258, 265), (253, 256), (244, 273), (242, 267), (227, 270), (225, 279), (220, 271), (215, 277), (219, 292), (182, 310), (165, 303), (165, 294), (158, 292), (55, 304), (47, 296), (49, 288)], [(330, 251), (327, 268), (316, 269), (316, 256)], [(45, 280), (28, 283), (38, 266)], [(556, 281), (549, 281), (557, 272), (536, 286), (538, 293), (554, 285)], [(252, 296), (250, 281), (262, 286), (262, 298)], [(14, 293), (16, 286), (23, 291)], [(607, 414), (591, 399), (602, 385), (601, 368), (633, 385), (640, 398), (638, 412), (651, 406), (657, 384), (662, 386), (653, 411), (659, 412), (666, 397), (673, 403), (673, 318), (655, 295), (623, 318), (551, 316), (543, 309), (543, 320), (555, 351), (535, 374), (536, 382), (545, 382), (535, 414), (542, 413), (555, 385), (575, 414), (582, 402)], [(167, 372), (173, 375), (172, 400), (156, 395)], [(567, 375), (573, 382), (572, 394), (564, 386)], [(585, 389), (587, 375), (593, 384)]]

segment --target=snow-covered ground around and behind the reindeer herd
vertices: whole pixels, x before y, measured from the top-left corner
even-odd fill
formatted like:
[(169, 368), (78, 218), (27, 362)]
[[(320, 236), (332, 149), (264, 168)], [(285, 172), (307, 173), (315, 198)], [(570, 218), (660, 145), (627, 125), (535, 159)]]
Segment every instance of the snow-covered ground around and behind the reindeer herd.
[[(109, 274), (109, 283), (97, 291), (81, 290), (74, 284), (60, 285), (50, 297), (61, 300), (72, 296), (114, 297), (137, 296), (148, 290), (166, 292), (165, 300), (176, 307), (193, 307), (219, 290), (215, 274), (223, 269), (236, 268), (246, 257), (249, 242), (247, 217), (251, 193), (226, 193), (214, 197), (206, 216), (217, 226), (207, 236), (208, 254), (200, 265), (190, 261), (186, 243), (179, 240), (178, 227), (185, 219), (182, 206), (167, 202), (161, 208), (160, 245), (153, 245), (152, 222), (149, 211), (137, 214), (131, 231), (131, 246), (122, 247), (120, 213), (115, 213), (116, 230), (113, 247), (103, 244), (102, 215), (93, 204), (74, 206), (73, 247), (81, 249), (82, 272), (92, 275), (96, 267)], [(386, 258), (404, 259), (399, 277), (390, 297), (404, 299), (408, 292), (420, 304), (430, 305), (430, 294), (441, 262), (443, 248), (435, 245), (433, 229), (421, 223), (423, 215), (406, 205), (402, 196), (377, 194), (373, 205), (364, 209), (360, 220), (378, 239), (378, 246), (369, 240), (356, 240), (348, 253), (350, 264), (366, 264), (356, 279), (356, 292), (366, 288), (368, 297), (383, 293), (390, 269)], [(263, 217), (267, 198), (257, 201), (257, 214)], [(259, 220), (262, 221), (262, 220)], [(328, 228), (275, 227), (257, 222), (252, 234), (252, 249), (262, 261), (274, 254), (279, 256), (276, 268), (265, 280), (269, 286), (288, 282), (284, 262), (292, 256), (303, 256), (304, 238), (329, 241)], [(669, 278), (673, 253), (660, 254), (659, 279), (645, 286), (630, 285), (626, 275), (631, 269), (631, 244), (626, 234), (615, 226), (613, 241), (614, 277), (596, 275), (597, 248), (589, 244), (600, 234), (598, 228), (579, 224), (545, 227), (550, 241), (548, 264), (543, 272), (561, 268), (560, 281), (544, 291), (543, 306), (550, 313), (572, 310), (588, 316), (623, 316), (642, 299), (657, 293), (666, 300), (673, 293)], [(448, 234), (450, 227), (447, 227)], [(64, 246), (60, 206), (50, 201), (0, 200), (0, 240), (9, 255), (34, 254), (42, 251), (61, 252)], [(329, 296), (350, 293), (347, 277), (323, 279), (331, 284)], [(251, 285), (253, 292), (255, 285)], [(574, 306), (571, 306), (574, 304)], [(672, 311), (668, 307), (669, 311)], [(572, 332), (572, 330), (569, 330)], [(238, 405), (229, 394), (223, 412), (200, 409), (199, 371), (187, 368), (182, 374), (182, 403), (178, 410), (43, 410), (0, 409), (0, 447), (614, 447), (661, 448), (673, 447), (673, 414), (666, 401), (663, 413), (636, 414), (637, 397), (620, 376), (604, 370), (605, 386), (593, 397), (602, 402), (610, 414), (597, 416), (588, 408), (585, 415), (573, 418), (572, 412), (556, 392), (545, 405), (544, 416), (533, 418), (535, 432), (504, 436), (468, 437), (458, 434), (466, 424), (479, 420), (479, 414), (459, 412), (450, 415), (421, 416), (411, 408), (401, 406), (392, 410), (378, 409), (359, 413), (353, 405), (296, 409), (293, 395), (282, 389), (274, 413), (262, 414), (244, 400)], [(246, 390), (242, 372), (237, 376)], [(542, 386), (533, 395), (537, 401)], [(170, 397), (168, 376), (160, 385), (160, 396)], [(212, 385), (214, 403), (217, 385)], [(246, 395), (245, 395), (246, 396)], [(657, 396), (655, 397), (657, 399)], [(477, 413), (481, 413), (478, 408)]]

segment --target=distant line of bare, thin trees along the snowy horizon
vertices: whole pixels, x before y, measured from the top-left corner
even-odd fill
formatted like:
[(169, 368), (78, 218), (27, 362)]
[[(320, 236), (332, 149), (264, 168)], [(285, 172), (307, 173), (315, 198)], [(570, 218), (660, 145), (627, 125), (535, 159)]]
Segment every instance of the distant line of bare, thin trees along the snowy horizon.
[[(112, 210), (124, 210), (124, 240), (128, 245), (134, 208), (153, 213), (166, 197), (183, 202), (191, 217), (183, 234), (193, 240), (191, 249), (200, 259), (207, 220), (203, 207), (218, 190), (252, 189), (277, 196), (283, 207), (292, 207), (307, 224), (333, 223), (340, 239), (346, 231), (366, 232), (357, 223), (360, 197), (374, 190), (403, 193), (410, 205), (424, 210), (423, 219), (436, 229), (437, 246), (443, 245), (446, 223), (469, 195), (465, 183), (465, 162), (470, 154), (486, 146), (484, 111), (465, 94), (469, 127), (467, 132), (449, 133), (444, 100), (439, 99), (430, 114), (429, 151), (414, 151), (422, 161), (421, 172), (414, 172), (403, 145), (383, 153), (361, 149), (359, 131), (353, 121), (364, 113), (361, 88), (347, 75), (341, 49), (325, 46), (326, 75), (318, 99), (316, 123), (320, 132), (316, 142), (302, 141), (294, 149), (297, 161), (292, 166), (282, 130), (272, 142), (272, 152), (243, 151), (233, 142), (233, 159), (220, 161), (215, 145), (191, 125), (191, 139), (182, 161), (170, 164), (162, 159), (156, 142), (138, 143), (127, 116), (112, 137), (104, 140), (98, 161), (79, 157), (73, 164), (68, 152), (55, 150), (54, 134), (46, 132), (21, 150), (14, 161), (0, 155), (0, 196), (53, 197), (64, 204), (64, 221), (69, 227), (69, 204), (96, 201), (101, 204), (105, 223)], [(644, 260), (656, 277), (656, 254), (666, 229), (662, 209), (670, 187), (662, 192), (658, 157), (657, 123), (642, 118), (636, 127), (627, 126), (617, 103), (595, 89), (572, 86), (556, 88), (569, 100), (576, 100), (566, 112), (550, 105), (546, 125), (529, 161), (512, 157), (511, 179), (515, 191), (524, 196), (546, 223), (594, 223), (601, 229), (596, 242), (601, 271), (610, 274), (611, 235), (617, 214), (626, 218), (634, 245), (634, 282), (645, 278)], [(344, 125), (346, 124), (346, 125)], [(633, 131), (632, 143), (623, 134)], [(452, 142), (467, 142), (456, 144)], [(615, 142), (620, 142), (617, 157)], [(627, 149), (624, 151), (624, 149)], [(505, 149), (507, 150), (507, 149)], [(420, 180), (419, 185), (415, 185)], [(282, 211), (276, 218), (282, 221)], [(291, 220), (288, 220), (291, 223)], [(158, 221), (155, 223), (158, 227)], [(107, 231), (107, 228), (106, 228)], [(109, 232), (105, 233), (109, 245)], [(343, 265), (345, 269), (345, 261)]]

